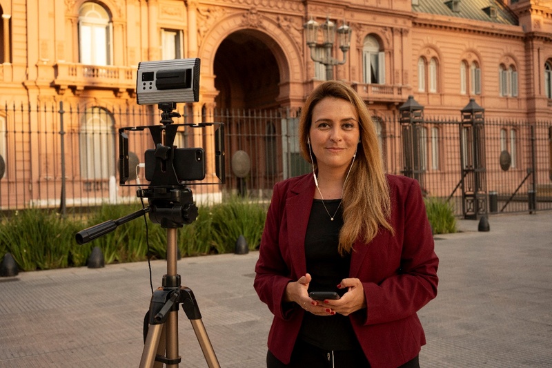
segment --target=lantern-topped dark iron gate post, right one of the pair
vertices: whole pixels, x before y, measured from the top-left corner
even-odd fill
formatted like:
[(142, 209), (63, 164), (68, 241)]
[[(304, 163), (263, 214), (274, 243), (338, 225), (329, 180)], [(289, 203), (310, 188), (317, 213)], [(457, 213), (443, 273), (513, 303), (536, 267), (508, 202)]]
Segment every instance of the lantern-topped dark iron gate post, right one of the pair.
[(462, 108), (460, 164), (462, 165), (462, 213), (477, 220), (487, 215), (485, 168), (485, 109), (475, 99)]

